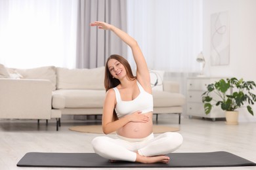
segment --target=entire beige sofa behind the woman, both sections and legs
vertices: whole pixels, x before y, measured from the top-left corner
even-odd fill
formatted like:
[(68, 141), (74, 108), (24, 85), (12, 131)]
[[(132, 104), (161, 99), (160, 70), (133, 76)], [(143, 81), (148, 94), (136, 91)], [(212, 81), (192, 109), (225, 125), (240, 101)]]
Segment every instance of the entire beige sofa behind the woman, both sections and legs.
[[(58, 127), (64, 114), (102, 114), (103, 82), (104, 67), (11, 69), (0, 65), (0, 118), (56, 118)], [(185, 97), (179, 93), (179, 84), (162, 79), (157, 82), (161, 84), (153, 88), (156, 118), (158, 114), (179, 114), (180, 124)]]

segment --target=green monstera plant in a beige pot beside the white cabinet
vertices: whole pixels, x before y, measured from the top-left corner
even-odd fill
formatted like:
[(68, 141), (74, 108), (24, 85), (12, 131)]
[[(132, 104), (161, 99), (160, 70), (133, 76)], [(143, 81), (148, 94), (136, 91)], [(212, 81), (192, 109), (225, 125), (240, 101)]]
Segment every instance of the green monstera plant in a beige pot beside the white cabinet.
[[(209, 114), (213, 106), (219, 106), (226, 114), (226, 124), (238, 124), (238, 111), (247, 105), (247, 111), (253, 115), (253, 105), (256, 95), (251, 91), (255, 88), (255, 82), (244, 81), (243, 78), (221, 79), (218, 82), (207, 85), (207, 91), (202, 94), (202, 101), (205, 114)], [(212, 97), (215, 95), (215, 97)], [(235, 116), (230, 118), (229, 115)]]

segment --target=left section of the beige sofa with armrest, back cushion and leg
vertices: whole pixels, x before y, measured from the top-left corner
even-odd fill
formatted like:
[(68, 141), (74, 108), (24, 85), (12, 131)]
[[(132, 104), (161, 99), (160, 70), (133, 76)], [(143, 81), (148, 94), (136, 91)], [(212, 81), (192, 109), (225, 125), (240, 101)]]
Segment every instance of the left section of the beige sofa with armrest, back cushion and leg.
[(61, 112), (53, 110), (51, 102), (54, 74), (54, 67), (7, 69), (0, 64), (0, 118), (35, 119), (38, 123), (54, 118), (58, 130)]

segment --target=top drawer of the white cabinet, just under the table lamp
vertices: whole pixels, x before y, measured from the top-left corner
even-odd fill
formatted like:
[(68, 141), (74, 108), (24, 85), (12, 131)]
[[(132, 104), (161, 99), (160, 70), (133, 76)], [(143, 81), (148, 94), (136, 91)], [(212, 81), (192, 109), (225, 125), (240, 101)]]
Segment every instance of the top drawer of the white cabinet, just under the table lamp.
[(188, 90), (207, 90), (207, 85), (210, 84), (209, 79), (188, 79), (187, 89)]

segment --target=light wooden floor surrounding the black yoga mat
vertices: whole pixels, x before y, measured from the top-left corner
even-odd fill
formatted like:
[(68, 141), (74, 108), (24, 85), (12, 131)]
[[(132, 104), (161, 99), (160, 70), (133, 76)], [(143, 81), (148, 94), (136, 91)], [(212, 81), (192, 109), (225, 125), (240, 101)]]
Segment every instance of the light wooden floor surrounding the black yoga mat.
[[(213, 122), (202, 118), (182, 118), (181, 125), (177, 122), (177, 115), (158, 116), (158, 124), (181, 128), (179, 133), (184, 137), (184, 143), (176, 152), (226, 151), (256, 162), (256, 122), (240, 123), (238, 126), (227, 126), (224, 120)], [(84, 124), (100, 124), (100, 121), (62, 120), (60, 130), (56, 131), (54, 120), (49, 121), (48, 126), (45, 121), (41, 121), (38, 126), (36, 120), (0, 120), (0, 169), (61, 169), (16, 167), (16, 163), (27, 152), (93, 152), (91, 141), (97, 134), (68, 130), (70, 126)], [(256, 169), (256, 167), (184, 169)]]

